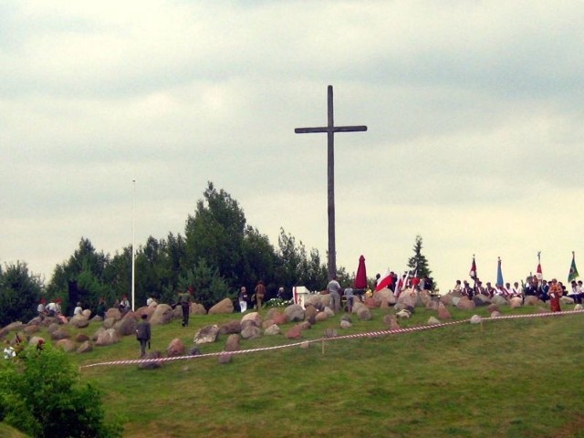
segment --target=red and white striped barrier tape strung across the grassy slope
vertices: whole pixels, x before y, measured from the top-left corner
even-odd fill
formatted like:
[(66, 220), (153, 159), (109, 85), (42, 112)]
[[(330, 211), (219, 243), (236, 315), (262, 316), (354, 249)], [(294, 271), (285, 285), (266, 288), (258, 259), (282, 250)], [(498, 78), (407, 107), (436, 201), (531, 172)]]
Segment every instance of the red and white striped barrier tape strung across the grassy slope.
[[(545, 313), (529, 313), (525, 315), (502, 315), (499, 317), (488, 317), (482, 318), (482, 320), (494, 321), (500, 319), (515, 319), (515, 318), (539, 318), (539, 317), (558, 317), (562, 315), (572, 315), (584, 313), (584, 310), (567, 310), (563, 312), (545, 312)], [(442, 324), (429, 324), (425, 326), (416, 326), (411, 328), (394, 328), (392, 330), (379, 330), (379, 331), (370, 331), (367, 333), (357, 333), (354, 335), (341, 335), (335, 336), (331, 338), (320, 338), (320, 339), (312, 339), (312, 340), (303, 340), (301, 342), (294, 342), (291, 344), (285, 345), (276, 345), (275, 347), (262, 347), (258, 349), (239, 349), (236, 351), (219, 351), (216, 353), (204, 353), (204, 354), (197, 354), (195, 356), (174, 356), (172, 358), (156, 358), (156, 359), (136, 359), (136, 360), (111, 360), (108, 362), (99, 362), (99, 363), (91, 363), (89, 365), (82, 365), (79, 367), (80, 369), (83, 368), (91, 368), (91, 367), (101, 367), (101, 366), (115, 366), (115, 365), (133, 365), (133, 364), (140, 364), (140, 363), (159, 363), (159, 362), (170, 362), (172, 360), (189, 360), (189, 359), (203, 359), (203, 358), (210, 358), (214, 356), (223, 356), (223, 355), (235, 355), (235, 354), (247, 354), (247, 353), (255, 353), (258, 351), (270, 351), (274, 349), (288, 349), (292, 347), (298, 347), (303, 344), (307, 343), (315, 343), (315, 342), (322, 342), (325, 340), (338, 340), (338, 339), (358, 339), (358, 338), (375, 338), (379, 336), (387, 336), (387, 335), (398, 335), (401, 333), (410, 333), (414, 331), (422, 331), (422, 330), (429, 330), (432, 328), (443, 328), (447, 326), (454, 326), (456, 324), (468, 323), (469, 319), (461, 319), (460, 321), (451, 321), (451, 322), (443, 322)]]

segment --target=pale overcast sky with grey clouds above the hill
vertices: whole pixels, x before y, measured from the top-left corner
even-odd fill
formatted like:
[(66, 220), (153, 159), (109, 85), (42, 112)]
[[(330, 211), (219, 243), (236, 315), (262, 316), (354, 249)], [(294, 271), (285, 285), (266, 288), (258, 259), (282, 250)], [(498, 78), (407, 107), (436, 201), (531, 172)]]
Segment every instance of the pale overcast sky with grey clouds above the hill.
[[(0, 3), (0, 262), (50, 279), (184, 234), (208, 181), (277, 246), (326, 260), (334, 87), (338, 265), (442, 290), (584, 270), (581, 1)], [(135, 195), (132, 179), (136, 179)], [(583, 273), (584, 274), (584, 273)], [(140, 273), (137, 273), (140, 275)]]

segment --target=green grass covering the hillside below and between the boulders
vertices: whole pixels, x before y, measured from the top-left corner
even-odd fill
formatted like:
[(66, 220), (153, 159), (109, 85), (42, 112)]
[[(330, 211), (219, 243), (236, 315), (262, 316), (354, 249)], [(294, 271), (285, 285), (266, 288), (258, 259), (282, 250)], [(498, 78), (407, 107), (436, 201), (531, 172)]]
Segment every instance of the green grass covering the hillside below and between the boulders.
[[(320, 339), (386, 329), (377, 309), (370, 321), (339, 318), (304, 332)], [(454, 319), (474, 312), (451, 309)], [(503, 308), (504, 315), (535, 308)], [(266, 314), (266, 310), (262, 312)], [(422, 325), (433, 312), (416, 310), (402, 327)], [(190, 328), (178, 320), (152, 330), (152, 349), (240, 315), (197, 316)], [(283, 331), (291, 327), (287, 324)], [(85, 328), (92, 333), (97, 326)], [(184, 437), (584, 437), (584, 315), (463, 323), (377, 338), (331, 339), (216, 358), (177, 360), (160, 370), (135, 365), (82, 368), (99, 387), (109, 415), (120, 414), (124, 436)], [(226, 336), (200, 347), (220, 351)], [(242, 349), (282, 345), (284, 336), (242, 340)], [(323, 353), (324, 349), (324, 353)], [(71, 354), (79, 366), (137, 359), (138, 342)]]

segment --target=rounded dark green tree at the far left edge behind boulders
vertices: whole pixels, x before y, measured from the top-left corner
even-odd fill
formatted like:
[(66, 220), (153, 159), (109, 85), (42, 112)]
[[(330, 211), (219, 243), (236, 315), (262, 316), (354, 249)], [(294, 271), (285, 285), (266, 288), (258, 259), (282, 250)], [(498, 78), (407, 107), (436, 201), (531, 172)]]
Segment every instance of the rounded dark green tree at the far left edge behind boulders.
[(42, 291), (41, 280), (28, 272), (26, 263), (6, 265), (4, 271), (0, 266), (0, 327), (35, 318)]

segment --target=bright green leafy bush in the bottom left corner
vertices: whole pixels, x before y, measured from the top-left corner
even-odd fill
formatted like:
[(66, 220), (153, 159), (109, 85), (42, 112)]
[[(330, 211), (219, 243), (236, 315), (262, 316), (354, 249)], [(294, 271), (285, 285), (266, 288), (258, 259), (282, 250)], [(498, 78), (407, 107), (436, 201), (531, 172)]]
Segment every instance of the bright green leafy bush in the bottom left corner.
[(34, 437), (120, 437), (106, 424), (99, 391), (79, 381), (64, 352), (27, 347), (0, 362), (0, 420)]

